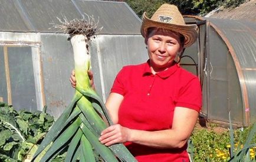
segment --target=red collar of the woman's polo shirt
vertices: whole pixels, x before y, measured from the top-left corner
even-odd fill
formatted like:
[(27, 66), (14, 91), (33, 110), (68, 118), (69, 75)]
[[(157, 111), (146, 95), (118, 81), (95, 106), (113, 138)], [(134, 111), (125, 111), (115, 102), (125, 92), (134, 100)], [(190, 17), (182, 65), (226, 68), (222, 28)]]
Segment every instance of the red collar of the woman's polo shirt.
[[(167, 77), (171, 76), (173, 73), (176, 72), (176, 70), (179, 68), (178, 63), (174, 63), (172, 66), (170, 66), (167, 70), (156, 73), (157, 76), (161, 77), (162, 79), (166, 79)], [(143, 72), (143, 76), (145, 75), (153, 75), (150, 69), (149, 60), (145, 63), (145, 69)]]

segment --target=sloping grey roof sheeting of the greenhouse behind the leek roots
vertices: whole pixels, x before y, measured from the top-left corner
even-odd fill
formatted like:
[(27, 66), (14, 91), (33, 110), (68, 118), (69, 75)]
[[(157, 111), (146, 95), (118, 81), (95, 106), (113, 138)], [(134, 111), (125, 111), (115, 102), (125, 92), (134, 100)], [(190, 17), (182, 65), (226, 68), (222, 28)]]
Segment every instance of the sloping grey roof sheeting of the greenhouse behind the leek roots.
[(93, 16), (104, 34), (139, 34), (140, 19), (124, 2), (81, 0), (1, 0), (0, 31), (61, 32), (53, 27)]

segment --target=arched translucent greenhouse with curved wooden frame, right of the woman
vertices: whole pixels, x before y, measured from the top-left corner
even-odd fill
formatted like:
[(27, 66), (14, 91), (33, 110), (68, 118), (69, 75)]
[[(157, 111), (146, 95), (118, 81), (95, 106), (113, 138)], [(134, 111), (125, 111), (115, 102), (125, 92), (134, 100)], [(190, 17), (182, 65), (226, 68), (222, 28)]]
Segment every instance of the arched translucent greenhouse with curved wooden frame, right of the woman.
[[(231, 122), (237, 126), (256, 122), (255, 22), (198, 16), (186, 16), (186, 20), (199, 26), (198, 42), (186, 53), (195, 60), (201, 79), (201, 116), (228, 124), (230, 112)], [(182, 62), (195, 73), (192, 59)]]

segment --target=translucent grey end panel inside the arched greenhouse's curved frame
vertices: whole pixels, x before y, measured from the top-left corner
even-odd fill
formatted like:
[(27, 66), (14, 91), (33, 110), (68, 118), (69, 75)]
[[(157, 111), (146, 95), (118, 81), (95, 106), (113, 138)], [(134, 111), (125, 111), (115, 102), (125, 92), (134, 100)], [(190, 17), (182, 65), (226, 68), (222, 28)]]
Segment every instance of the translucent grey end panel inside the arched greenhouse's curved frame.
[(209, 27), (207, 51), (208, 119), (221, 124), (243, 126), (241, 87), (234, 60), (223, 39)]

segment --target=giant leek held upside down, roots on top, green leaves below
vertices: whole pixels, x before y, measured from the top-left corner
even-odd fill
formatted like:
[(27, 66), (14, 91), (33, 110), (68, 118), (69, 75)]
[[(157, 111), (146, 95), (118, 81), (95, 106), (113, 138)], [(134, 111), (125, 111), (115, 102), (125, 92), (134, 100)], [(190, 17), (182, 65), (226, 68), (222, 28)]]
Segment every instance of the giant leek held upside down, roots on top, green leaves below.
[[(71, 38), (77, 80), (76, 93), (45, 136), (32, 160), (49, 161), (61, 151), (67, 150), (65, 161), (98, 161), (95, 154), (99, 154), (104, 161), (136, 161), (123, 144), (106, 147), (99, 142), (101, 131), (112, 122), (104, 103), (91, 88), (87, 74), (90, 69), (90, 38), (99, 31), (93, 17), (90, 18), (87, 21), (65, 20), (57, 26)], [(40, 154), (44, 156), (39, 156)]]

